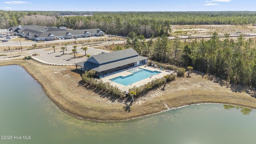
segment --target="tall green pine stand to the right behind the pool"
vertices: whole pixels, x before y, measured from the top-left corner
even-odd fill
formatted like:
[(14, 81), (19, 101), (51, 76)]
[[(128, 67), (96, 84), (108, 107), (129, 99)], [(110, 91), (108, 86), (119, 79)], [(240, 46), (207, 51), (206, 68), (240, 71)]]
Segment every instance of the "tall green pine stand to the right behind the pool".
[[(140, 55), (162, 63), (192, 66), (194, 70), (218, 76), (231, 83), (256, 86), (256, 40), (245, 40), (240, 35), (237, 40), (229, 34), (220, 40), (214, 32), (210, 40), (188, 39), (182, 42), (178, 37), (168, 40), (161, 37), (146, 41), (143, 35), (130, 32), (126, 48), (134, 48)], [(119, 46), (116, 46), (120, 49)]]

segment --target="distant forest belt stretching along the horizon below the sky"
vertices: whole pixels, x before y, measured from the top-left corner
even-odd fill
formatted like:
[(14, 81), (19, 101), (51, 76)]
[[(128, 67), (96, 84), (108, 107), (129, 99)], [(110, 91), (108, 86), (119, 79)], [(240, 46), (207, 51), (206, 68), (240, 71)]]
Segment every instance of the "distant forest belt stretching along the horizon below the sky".
[[(93, 16), (56, 16), (92, 14)], [(256, 12), (52, 12), (0, 10), (0, 28), (15, 25), (66, 26), (72, 29), (100, 28), (107, 34), (145, 38), (170, 35), (170, 25), (256, 24)]]

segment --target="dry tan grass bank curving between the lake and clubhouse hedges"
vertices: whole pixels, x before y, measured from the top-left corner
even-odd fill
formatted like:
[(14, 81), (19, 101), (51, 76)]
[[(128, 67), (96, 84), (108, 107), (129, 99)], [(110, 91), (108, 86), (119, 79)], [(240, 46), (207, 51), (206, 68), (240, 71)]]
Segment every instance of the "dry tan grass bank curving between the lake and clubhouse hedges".
[(86, 120), (131, 120), (171, 108), (198, 103), (223, 103), (256, 108), (256, 94), (250, 89), (232, 86), (200, 72), (191, 78), (176, 78), (164, 91), (157, 89), (135, 99), (127, 107), (125, 100), (104, 91), (79, 85), (81, 71), (74, 66), (48, 66), (32, 60), (0, 61), (0, 66), (18, 64), (26, 69), (61, 110)]

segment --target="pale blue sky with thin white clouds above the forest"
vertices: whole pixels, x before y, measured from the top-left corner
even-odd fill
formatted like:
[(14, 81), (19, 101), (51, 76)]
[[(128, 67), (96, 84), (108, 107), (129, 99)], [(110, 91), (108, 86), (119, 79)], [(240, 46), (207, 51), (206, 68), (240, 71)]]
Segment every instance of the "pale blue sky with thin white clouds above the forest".
[(256, 11), (256, 0), (0, 0), (1, 10)]

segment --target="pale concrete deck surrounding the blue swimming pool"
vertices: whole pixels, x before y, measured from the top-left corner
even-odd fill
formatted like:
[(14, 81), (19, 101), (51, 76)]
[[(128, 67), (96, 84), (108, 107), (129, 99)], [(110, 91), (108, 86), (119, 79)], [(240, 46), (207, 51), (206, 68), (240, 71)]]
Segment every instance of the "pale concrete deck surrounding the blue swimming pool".
[(110, 82), (113, 86), (117, 86), (120, 90), (123, 90), (123, 91), (126, 91), (126, 90), (129, 90), (129, 88), (132, 88), (134, 86), (136, 87), (139, 87), (139, 86), (142, 86), (156, 78), (162, 78), (163, 76), (167, 75), (167, 74), (170, 74), (170, 72), (166, 72), (164, 70), (159, 70), (159, 68), (152, 68), (152, 67), (149, 67), (149, 66), (146, 66), (144, 67), (144, 65), (140, 65), (140, 66), (136, 66), (136, 68), (143, 68), (145, 70), (151, 70), (151, 71), (158, 71), (158, 72), (161, 72), (160, 74), (156, 74), (154, 76), (152, 76), (152, 78), (145, 78), (144, 80), (140, 80), (138, 82), (135, 82), (133, 84), (130, 84), (128, 86), (124, 86), (122, 84), (118, 84), (116, 82), (113, 82), (111, 81), (110, 79), (112, 78), (116, 78), (118, 76), (128, 76), (130, 74), (132, 74), (131, 72), (128, 72), (129, 70), (132, 70), (134, 67), (132, 68), (129, 68), (129, 69), (125, 69), (125, 70), (121, 70), (121, 71), (118, 71), (118, 72), (114, 72), (112, 74), (109, 74), (109, 75), (105, 75), (105, 77), (101, 78), (101, 80), (103, 82)]

